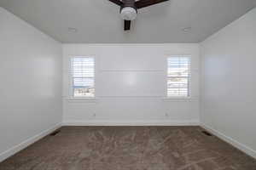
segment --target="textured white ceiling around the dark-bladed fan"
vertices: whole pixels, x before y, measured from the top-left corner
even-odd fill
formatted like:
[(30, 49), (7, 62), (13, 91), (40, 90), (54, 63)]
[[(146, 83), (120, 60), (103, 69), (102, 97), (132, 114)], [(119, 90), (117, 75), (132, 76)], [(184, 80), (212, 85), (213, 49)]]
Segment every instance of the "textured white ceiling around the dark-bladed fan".
[(201, 42), (254, 8), (256, 0), (170, 0), (140, 9), (128, 32), (119, 7), (108, 0), (0, 0), (0, 6), (60, 42)]

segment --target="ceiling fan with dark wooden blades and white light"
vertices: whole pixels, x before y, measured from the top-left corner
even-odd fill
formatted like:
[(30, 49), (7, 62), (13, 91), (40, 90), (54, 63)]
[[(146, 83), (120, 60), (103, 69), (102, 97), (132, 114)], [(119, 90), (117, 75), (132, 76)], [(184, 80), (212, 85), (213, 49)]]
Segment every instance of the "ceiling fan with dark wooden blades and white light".
[(109, 0), (112, 3), (119, 5), (121, 18), (125, 20), (125, 31), (131, 29), (131, 20), (137, 17), (137, 9), (145, 8), (156, 3), (163, 3), (169, 0)]

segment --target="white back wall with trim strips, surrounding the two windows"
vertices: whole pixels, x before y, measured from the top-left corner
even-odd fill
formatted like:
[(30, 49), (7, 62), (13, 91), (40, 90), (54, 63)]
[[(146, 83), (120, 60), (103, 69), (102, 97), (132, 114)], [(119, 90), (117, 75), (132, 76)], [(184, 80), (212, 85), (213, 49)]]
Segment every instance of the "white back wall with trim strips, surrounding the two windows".
[[(192, 57), (192, 98), (167, 100), (166, 57)], [(69, 60), (96, 57), (96, 100), (69, 99)], [(189, 125), (199, 122), (198, 44), (64, 44), (64, 125)]]

